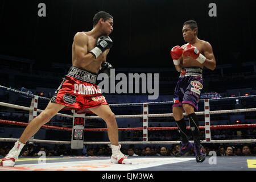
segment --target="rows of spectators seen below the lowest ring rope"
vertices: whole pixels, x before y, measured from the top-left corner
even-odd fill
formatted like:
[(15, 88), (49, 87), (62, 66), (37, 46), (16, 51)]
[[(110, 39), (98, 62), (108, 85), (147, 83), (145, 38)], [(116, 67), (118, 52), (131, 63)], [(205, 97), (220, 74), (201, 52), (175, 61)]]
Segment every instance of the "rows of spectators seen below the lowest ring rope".
[[(13, 147), (13, 142), (0, 143), (0, 158), (4, 158)], [(144, 146), (134, 147), (134, 145), (123, 145), (121, 151), (127, 156), (175, 156), (180, 151), (181, 144), (171, 144), (160, 147)], [(255, 143), (247, 144), (203, 144), (204, 154), (212, 156), (213, 153), (217, 156), (255, 156)], [(32, 157), (38, 155), (45, 156), (111, 156), (112, 150), (108, 145), (102, 146), (85, 146), (81, 150), (72, 150), (69, 145), (55, 144), (51, 147), (43, 144), (34, 143), (26, 144), (19, 156)], [(184, 156), (195, 156), (193, 148)]]

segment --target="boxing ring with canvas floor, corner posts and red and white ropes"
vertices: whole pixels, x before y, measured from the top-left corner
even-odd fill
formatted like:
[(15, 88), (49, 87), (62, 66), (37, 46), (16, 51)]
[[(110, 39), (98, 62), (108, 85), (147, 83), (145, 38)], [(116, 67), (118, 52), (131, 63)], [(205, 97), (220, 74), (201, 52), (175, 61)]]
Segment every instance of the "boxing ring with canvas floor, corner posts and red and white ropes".
[[(1, 106), (11, 107), (14, 109), (29, 111), (29, 122), (36, 117), (36, 115), (43, 110), (38, 109), (39, 99), (49, 100), (46, 97), (35, 96), (34, 94), (24, 93), (18, 90), (0, 86), (0, 89), (6, 92), (15, 92), (24, 96), (32, 98), (31, 106), (25, 107), (20, 105), (9, 104), (0, 102)], [(204, 111), (196, 112), (197, 115), (204, 115), (205, 125), (199, 126), (200, 130), (205, 131), (205, 139), (201, 141), (202, 144), (207, 143), (255, 143), (256, 139), (222, 139), (213, 140), (211, 130), (218, 129), (248, 129), (255, 128), (256, 124), (239, 124), (239, 125), (210, 125), (210, 115), (225, 114), (225, 113), (244, 113), (254, 112), (256, 108), (247, 109), (232, 109), (232, 110), (210, 110), (210, 102), (230, 101), (242, 98), (256, 98), (256, 96), (242, 96), (242, 97), (228, 97), (228, 98), (210, 98), (200, 100), (204, 102)], [(123, 106), (142, 106), (142, 114), (130, 115), (115, 115), (116, 118), (142, 118), (142, 127), (134, 128), (119, 128), (118, 131), (142, 131), (141, 141), (119, 141), (120, 144), (179, 144), (180, 140), (176, 141), (150, 141), (148, 140), (148, 131), (156, 130), (177, 130), (177, 127), (148, 127), (149, 118), (159, 117), (172, 117), (172, 113), (150, 114), (148, 107), (151, 105), (173, 104), (172, 101), (167, 102), (145, 102), (145, 103), (130, 103), (130, 104), (110, 104), (110, 107), (123, 107)], [(57, 113), (62, 117), (73, 118), (73, 127), (59, 127), (43, 125), (44, 129), (54, 129), (72, 132), (71, 141), (58, 141), (58, 140), (40, 140), (32, 137), (28, 142), (32, 143), (45, 143), (45, 144), (71, 144), (71, 148), (79, 149), (84, 144), (110, 144), (110, 142), (87, 142), (81, 135), (86, 131), (102, 132), (107, 129), (85, 129), (84, 122), (86, 119), (99, 118), (95, 115), (76, 114), (72, 111), (73, 115)], [(185, 115), (185, 113), (183, 113)], [(82, 121), (82, 125), (77, 126), (78, 121)], [(82, 119), (82, 120), (81, 120)], [(27, 126), (28, 123), (8, 121), (0, 119), (0, 123), (8, 125)], [(187, 127), (190, 130), (190, 127)], [(80, 138), (77, 137), (80, 135)], [(75, 138), (77, 137), (77, 138)], [(0, 142), (16, 142), (18, 138), (0, 138)], [(193, 143), (193, 141), (190, 141)], [(72, 147), (73, 144), (73, 147)], [(256, 169), (256, 156), (207, 156), (204, 163), (196, 163), (195, 156), (183, 156), (175, 158), (174, 156), (139, 156), (129, 157), (133, 162), (131, 165), (112, 164), (110, 163), (110, 156), (35, 156), (35, 157), (19, 157), (15, 167), (1, 167), (0, 171), (255, 171)]]

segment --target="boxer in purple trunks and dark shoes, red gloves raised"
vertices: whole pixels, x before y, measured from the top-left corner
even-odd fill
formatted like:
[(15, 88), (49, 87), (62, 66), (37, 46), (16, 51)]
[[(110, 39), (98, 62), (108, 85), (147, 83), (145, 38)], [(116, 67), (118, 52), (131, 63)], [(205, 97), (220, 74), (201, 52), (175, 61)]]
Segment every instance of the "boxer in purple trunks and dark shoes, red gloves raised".
[[(182, 144), (176, 156), (182, 156), (194, 147), (196, 162), (204, 162), (205, 155), (200, 143), (199, 121), (195, 110), (198, 110), (199, 98), (203, 90), (203, 68), (214, 70), (216, 61), (210, 43), (200, 40), (197, 33), (198, 27), (195, 21), (185, 22), (182, 34), (187, 44), (171, 49), (171, 57), (174, 60), (176, 71), (180, 72), (174, 90), (172, 113), (181, 134)], [(194, 145), (188, 141), (183, 111), (188, 117)]]

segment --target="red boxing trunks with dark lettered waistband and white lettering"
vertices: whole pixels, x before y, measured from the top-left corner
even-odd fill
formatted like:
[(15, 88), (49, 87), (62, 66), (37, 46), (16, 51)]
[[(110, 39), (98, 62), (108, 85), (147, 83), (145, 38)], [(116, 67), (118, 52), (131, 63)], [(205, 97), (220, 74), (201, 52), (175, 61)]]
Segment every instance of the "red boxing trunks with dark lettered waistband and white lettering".
[(51, 102), (65, 105), (62, 110), (76, 110), (76, 113), (91, 113), (88, 109), (108, 104), (96, 85), (97, 75), (71, 67), (56, 90)]

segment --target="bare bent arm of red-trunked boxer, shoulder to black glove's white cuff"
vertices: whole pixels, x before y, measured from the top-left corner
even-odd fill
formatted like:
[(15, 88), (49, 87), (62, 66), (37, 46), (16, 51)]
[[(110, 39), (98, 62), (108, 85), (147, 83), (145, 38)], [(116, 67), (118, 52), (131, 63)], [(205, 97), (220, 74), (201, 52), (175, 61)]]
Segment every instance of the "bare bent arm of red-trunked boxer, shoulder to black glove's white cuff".
[(86, 34), (82, 32), (78, 32), (75, 35), (74, 37), (75, 54), (81, 67), (85, 67), (86, 65), (92, 63), (92, 61), (95, 59), (92, 53), (90, 52), (88, 53), (87, 43), (88, 43), (88, 37)]

